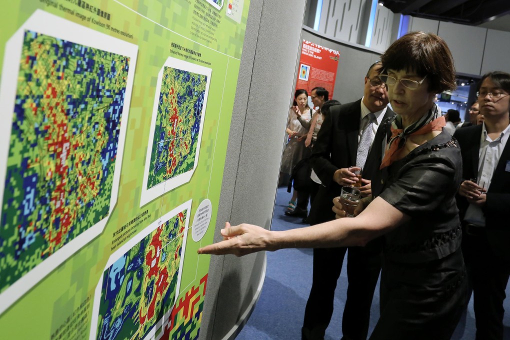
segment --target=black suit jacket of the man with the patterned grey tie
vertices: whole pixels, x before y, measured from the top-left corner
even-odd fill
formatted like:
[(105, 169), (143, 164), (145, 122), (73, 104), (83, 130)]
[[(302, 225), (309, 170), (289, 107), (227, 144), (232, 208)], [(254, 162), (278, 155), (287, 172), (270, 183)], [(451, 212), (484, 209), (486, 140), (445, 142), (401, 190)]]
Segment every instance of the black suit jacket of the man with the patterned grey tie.
[[(395, 115), (388, 109), (383, 118)], [(355, 165), (360, 132), (361, 99), (344, 105), (331, 107), (330, 114), (322, 122), (321, 129), (314, 144), (310, 163), (322, 181), (308, 220), (318, 224), (335, 219), (331, 211), (333, 199), (340, 196), (342, 187), (333, 180), (335, 171)], [(374, 145), (379, 145), (374, 141)], [(363, 168), (363, 178), (371, 179), (374, 171), (379, 169), (373, 152), (380, 152), (380, 147), (372, 147)]]

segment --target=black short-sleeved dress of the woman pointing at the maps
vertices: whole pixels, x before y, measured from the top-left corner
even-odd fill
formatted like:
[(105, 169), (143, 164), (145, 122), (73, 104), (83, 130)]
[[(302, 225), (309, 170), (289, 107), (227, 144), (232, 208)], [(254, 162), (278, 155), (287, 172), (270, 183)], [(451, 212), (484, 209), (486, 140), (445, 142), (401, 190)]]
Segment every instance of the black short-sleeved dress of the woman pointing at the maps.
[(451, 338), (467, 299), (455, 204), (461, 175), (460, 148), (443, 131), (372, 179), (374, 197), (411, 220), (383, 237), (380, 319), (371, 340)]

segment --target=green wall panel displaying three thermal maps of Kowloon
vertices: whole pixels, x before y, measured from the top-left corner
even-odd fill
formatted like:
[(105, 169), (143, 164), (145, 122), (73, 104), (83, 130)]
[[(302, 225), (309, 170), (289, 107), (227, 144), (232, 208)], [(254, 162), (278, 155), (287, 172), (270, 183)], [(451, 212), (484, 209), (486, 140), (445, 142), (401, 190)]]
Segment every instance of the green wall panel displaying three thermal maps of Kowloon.
[(3, 4), (2, 338), (198, 337), (248, 8)]

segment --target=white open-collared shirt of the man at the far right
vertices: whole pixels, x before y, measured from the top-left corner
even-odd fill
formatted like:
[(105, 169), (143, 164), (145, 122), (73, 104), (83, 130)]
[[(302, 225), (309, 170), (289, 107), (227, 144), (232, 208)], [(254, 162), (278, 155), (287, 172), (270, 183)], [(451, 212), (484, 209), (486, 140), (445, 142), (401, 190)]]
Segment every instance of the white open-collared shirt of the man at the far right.
[[(508, 125), (499, 135), (498, 138), (492, 140), (487, 133), (485, 122), (482, 125), (482, 133), (480, 137), (480, 150), (478, 152), (478, 185), (485, 189), (489, 189), (491, 185), (492, 175), (498, 165), (501, 153), (505, 148), (506, 142), (510, 135), (510, 125)], [(485, 226), (485, 217), (481, 207), (469, 204), (464, 220), (479, 226)]]

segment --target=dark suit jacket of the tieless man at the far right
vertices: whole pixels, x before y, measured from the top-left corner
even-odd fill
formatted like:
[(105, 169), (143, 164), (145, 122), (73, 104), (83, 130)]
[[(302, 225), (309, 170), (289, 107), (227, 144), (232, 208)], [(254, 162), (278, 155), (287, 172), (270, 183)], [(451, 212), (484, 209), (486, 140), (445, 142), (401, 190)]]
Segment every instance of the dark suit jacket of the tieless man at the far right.
[[(463, 180), (478, 176), (481, 134), (482, 125), (461, 128), (455, 132), (454, 137), (461, 146)], [(457, 195), (457, 206), (462, 221), (469, 203), (465, 197)], [(510, 141), (506, 142), (492, 174), (491, 185), (487, 189), (487, 201), (482, 208), (492, 249), (496, 254), (510, 260), (508, 208), (510, 208)]]

